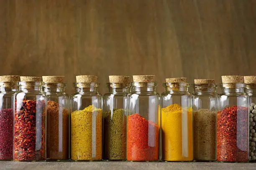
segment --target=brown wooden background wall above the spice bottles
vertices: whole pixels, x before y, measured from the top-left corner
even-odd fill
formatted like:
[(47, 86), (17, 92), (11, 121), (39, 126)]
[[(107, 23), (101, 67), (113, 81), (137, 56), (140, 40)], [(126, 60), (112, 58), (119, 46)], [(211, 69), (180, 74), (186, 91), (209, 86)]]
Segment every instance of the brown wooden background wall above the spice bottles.
[(0, 0), (0, 74), (256, 75), (256, 0)]

